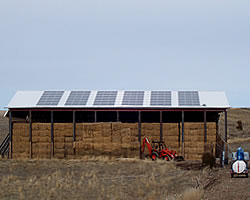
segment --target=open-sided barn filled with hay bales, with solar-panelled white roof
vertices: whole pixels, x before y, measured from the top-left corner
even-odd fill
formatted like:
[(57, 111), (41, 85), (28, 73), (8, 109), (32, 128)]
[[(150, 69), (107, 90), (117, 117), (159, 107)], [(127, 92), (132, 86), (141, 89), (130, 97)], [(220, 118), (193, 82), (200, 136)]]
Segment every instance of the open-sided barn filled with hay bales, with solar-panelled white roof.
[(142, 140), (165, 141), (186, 160), (220, 157), (222, 91), (17, 91), (9, 105), (11, 158), (141, 157)]

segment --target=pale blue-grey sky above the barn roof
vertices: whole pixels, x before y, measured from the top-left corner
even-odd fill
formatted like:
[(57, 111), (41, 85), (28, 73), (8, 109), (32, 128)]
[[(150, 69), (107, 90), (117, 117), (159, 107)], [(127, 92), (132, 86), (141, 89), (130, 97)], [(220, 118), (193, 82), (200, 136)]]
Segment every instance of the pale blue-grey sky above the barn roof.
[(46, 89), (222, 90), (250, 107), (250, 1), (2, 0), (0, 74), (0, 109)]

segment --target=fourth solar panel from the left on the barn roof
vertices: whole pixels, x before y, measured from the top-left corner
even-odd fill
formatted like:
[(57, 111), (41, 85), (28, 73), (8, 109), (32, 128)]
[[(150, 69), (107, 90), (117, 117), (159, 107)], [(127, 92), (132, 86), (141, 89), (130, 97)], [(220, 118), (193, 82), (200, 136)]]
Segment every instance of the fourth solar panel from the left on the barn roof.
[(122, 105), (142, 106), (144, 100), (144, 91), (125, 91)]

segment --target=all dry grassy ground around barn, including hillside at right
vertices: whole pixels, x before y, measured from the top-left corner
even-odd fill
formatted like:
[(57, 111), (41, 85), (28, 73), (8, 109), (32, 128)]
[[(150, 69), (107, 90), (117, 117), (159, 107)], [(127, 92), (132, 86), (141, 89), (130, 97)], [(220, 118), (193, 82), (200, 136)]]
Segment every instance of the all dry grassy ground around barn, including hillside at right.
[[(250, 109), (228, 113), (229, 144), (250, 151)], [(241, 120), (243, 129), (237, 129)], [(0, 138), (8, 121), (0, 120)], [(224, 134), (223, 115), (220, 134)], [(230, 166), (84, 157), (82, 160), (0, 159), (0, 199), (250, 199), (250, 179), (230, 178)]]

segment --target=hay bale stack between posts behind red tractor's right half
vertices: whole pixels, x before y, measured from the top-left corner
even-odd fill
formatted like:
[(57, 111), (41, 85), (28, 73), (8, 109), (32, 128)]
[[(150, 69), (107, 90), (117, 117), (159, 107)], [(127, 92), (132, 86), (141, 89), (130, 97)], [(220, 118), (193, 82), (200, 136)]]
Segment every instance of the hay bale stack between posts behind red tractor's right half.
[(169, 149), (180, 152), (180, 130), (178, 123), (164, 123), (162, 125), (163, 141)]

